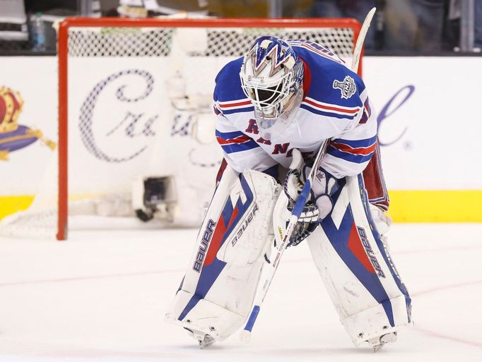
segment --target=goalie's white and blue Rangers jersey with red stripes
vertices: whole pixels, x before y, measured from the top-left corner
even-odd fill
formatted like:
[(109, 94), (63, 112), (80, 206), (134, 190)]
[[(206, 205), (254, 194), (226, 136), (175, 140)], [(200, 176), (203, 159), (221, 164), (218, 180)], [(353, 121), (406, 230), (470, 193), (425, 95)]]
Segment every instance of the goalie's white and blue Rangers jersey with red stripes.
[(289, 41), (304, 67), (303, 99), (295, 119), (271, 140), (259, 134), (254, 106), (241, 88), (242, 58), (216, 77), (216, 138), (225, 160), (238, 172), (288, 167), (293, 148), (314, 159), (329, 139), (322, 167), (337, 178), (360, 174), (377, 149), (377, 120), (363, 80), (329, 49)]

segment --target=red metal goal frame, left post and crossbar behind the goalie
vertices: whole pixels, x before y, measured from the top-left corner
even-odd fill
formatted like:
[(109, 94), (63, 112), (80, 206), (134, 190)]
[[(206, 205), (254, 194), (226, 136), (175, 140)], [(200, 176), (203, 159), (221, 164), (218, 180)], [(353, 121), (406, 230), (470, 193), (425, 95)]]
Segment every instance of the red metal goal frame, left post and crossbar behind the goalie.
[[(149, 18), (149, 19), (124, 19), (124, 18), (67, 18), (59, 25), (58, 33), (58, 57), (59, 57), (59, 148), (58, 148), (58, 167), (59, 167), (59, 188), (58, 188), (58, 224), (57, 239), (64, 240), (67, 235), (68, 208), (69, 208), (69, 76), (71, 69), (69, 68), (69, 58), (72, 50), (69, 49), (71, 42), (69, 38), (73, 31), (82, 32), (83, 29), (105, 28), (105, 29), (125, 29), (128, 33), (132, 28), (206, 28), (206, 29), (243, 29), (245, 32), (251, 33), (257, 29), (257, 32), (272, 33), (283, 29), (284, 33), (290, 33), (290, 30), (306, 30), (316, 32), (317, 30), (340, 29), (342, 30), (343, 39), (336, 40), (336, 32), (334, 32), (334, 43), (351, 42), (353, 52), (354, 44), (360, 32), (360, 23), (355, 19), (346, 18), (308, 18), (308, 19), (221, 19), (221, 18), (202, 18), (202, 19), (173, 19), (173, 18)], [(249, 31), (248, 31), (249, 30)], [(328, 30), (327, 30), (328, 31)], [(330, 35), (331, 36), (331, 35)], [(346, 39), (345, 39), (346, 37)], [(293, 37), (293, 39), (296, 39)], [(316, 38), (315, 38), (316, 39)], [(331, 39), (331, 38), (329, 38)], [(89, 42), (88, 37), (84, 39), (86, 44)], [(78, 42), (81, 42), (78, 40)], [(315, 41), (315, 40), (314, 40)], [(78, 44), (76, 42), (76, 44)], [(221, 41), (222, 42), (222, 41)], [(143, 46), (145, 42), (142, 42)], [(219, 46), (223, 44), (216, 43)], [(119, 50), (124, 49), (123, 42), (119, 42)], [(324, 44), (331, 48), (331, 44)], [(87, 45), (86, 45), (87, 46)], [(155, 50), (155, 49), (154, 49)], [(247, 50), (247, 49), (246, 49)], [(337, 52), (337, 49), (334, 49)], [(103, 56), (102, 49), (97, 49), (93, 56)], [(109, 54), (107, 54), (109, 55)], [(117, 54), (119, 55), (119, 54)], [(123, 54), (120, 54), (122, 56)], [(362, 54), (363, 55), (363, 54)], [(89, 54), (81, 54), (81, 56), (89, 56)], [(361, 74), (362, 60), (358, 68)]]

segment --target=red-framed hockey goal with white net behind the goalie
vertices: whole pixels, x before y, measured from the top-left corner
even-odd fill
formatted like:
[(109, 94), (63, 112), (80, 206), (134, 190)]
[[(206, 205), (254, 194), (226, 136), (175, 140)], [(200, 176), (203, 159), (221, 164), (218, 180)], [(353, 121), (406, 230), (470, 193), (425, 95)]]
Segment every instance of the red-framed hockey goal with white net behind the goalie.
[[(360, 23), (346, 18), (67, 18), (58, 34), (58, 159), (42, 182), (49, 186), (40, 186), (32, 210), (13, 218), (10, 229), (16, 232), (9, 234), (22, 235), (40, 225), (49, 231), (41, 236), (64, 240), (71, 200), (129, 193), (133, 179), (153, 164), (184, 163), (174, 155), (186, 146), (170, 138), (189, 133), (189, 122), (172, 121), (195, 113), (196, 107), (172, 115), (172, 99), (201, 99), (198, 110), (212, 109), (216, 73), (243, 56), (257, 37), (317, 42), (349, 65), (359, 32)], [(360, 60), (358, 73), (361, 68)], [(136, 104), (136, 111), (129, 109)], [(136, 143), (136, 138), (143, 141)], [(198, 154), (202, 150), (194, 158)], [(198, 164), (217, 165), (206, 155), (203, 161), (199, 157)], [(37, 198), (42, 202), (36, 203)]]

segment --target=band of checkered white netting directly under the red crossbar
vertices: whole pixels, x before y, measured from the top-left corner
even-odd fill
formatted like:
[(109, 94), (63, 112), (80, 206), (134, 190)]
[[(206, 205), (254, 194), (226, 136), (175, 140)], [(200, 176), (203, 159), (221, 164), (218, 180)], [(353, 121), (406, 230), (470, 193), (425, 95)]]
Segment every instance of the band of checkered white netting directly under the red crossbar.
[[(185, 29), (183, 29), (185, 31)], [(72, 28), (69, 56), (168, 56), (175, 28)], [(206, 28), (206, 49), (189, 56), (243, 56), (261, 35), (323, 44), (339, 56), (351, 56), (351, 28)]]

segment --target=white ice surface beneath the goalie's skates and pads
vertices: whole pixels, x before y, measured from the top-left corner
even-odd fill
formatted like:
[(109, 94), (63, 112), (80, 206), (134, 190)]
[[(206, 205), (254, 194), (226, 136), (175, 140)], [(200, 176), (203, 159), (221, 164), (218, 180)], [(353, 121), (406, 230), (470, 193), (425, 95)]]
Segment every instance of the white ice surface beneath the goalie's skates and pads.
[(416, 326), (355, 348), (312, 263), (290, 248), (254, 327), (200, 350), (163, 321), (196, 230), (0, 239), (0, 361), (482, 361), (482, 224), (395, 224), (390, 245)]

